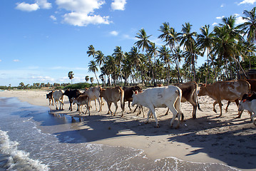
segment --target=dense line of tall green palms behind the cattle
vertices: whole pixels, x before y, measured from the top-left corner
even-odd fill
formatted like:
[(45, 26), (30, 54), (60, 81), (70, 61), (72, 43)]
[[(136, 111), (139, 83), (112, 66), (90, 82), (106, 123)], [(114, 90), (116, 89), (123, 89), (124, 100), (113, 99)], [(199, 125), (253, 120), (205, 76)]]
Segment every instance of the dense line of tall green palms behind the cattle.
[[(93, 60), (88, 63), (88, 71), (93, 72), (96, 81), (103, 86), (143, 83), (156, 86), (157, 83), (183, 83), (197, 81), (214, 83), (240, 78), (247, 75), (244, 68), (255, 68), (256, 16), (254, 7), (243, 11), (244, 23), (236, 26), (235, 16), (223, 17), (222, 23), (213, 27), (200, 28), (200, 33), (192, 31), (192, 24), (182, 25), (180, 32), (163, 23), (159, 30), (163, 46), (156, 46), (149, 38), (152, 35), (141, 28), (138, 39), (129, 52), (116, 46), (112, 55), (105, 56), (88, 46), (87, 54)], [(206, 62), (197, 67), (198, 58), (206, 56)], [(180, 63), (183, 61), (183, 65)], [(100, 71), (101, 75), (96, 76)]]

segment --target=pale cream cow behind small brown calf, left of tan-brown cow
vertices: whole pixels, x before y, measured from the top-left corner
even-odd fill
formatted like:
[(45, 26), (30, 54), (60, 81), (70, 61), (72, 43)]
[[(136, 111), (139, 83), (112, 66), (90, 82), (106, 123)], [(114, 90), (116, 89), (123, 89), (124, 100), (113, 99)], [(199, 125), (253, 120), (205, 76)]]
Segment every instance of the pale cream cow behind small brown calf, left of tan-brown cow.
[(101, 87), (99, 86), (89, 88), (83, 92), (83, 95), (87, 95), (90, 98), (90, 102), (89, 102), (90, 106), (91, 106), (91, 101), (92, 100), (95, 101), (96, 110), (97, 110), (96, 100), (98, 100), (98, 104), (100, 105), (100, 109), (98, 110), (99, 112), (101, 112), (102, 110), (102, 99), (100, 102), (100, 93), (101, 93)]

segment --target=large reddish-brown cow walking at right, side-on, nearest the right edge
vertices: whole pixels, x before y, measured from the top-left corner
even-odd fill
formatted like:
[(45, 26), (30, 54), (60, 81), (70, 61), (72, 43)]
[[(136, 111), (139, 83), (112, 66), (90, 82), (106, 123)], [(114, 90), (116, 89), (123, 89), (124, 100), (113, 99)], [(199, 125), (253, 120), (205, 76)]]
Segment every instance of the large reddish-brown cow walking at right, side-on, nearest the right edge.
[(210, 98), (215, 100), (213, 103), (213, 111), (215, 111), (215, 105), (218, 103), (220, 106), (220, 115), (222, 115), (222, 103), (221, 100), (234, 101), (241, 99), (242, 95), (250, 92), (250, 83), (245, 80), (234, 81), (219, 81), (211, 85), (205, 85), (200, 87), (198, 96), (209, 95)]

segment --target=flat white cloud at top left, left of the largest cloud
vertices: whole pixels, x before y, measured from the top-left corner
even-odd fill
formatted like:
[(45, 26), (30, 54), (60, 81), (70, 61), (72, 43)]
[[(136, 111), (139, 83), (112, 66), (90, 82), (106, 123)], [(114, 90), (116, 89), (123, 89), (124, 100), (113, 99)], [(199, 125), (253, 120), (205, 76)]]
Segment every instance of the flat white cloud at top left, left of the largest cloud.
[(51, 9), (51, 3), (48, 3), (47, 0), (36, 0), (34, 4), (27, 4), (25, 2), (17, 3), (16, 9), (21, 11), (36, 11), (38, 9)]

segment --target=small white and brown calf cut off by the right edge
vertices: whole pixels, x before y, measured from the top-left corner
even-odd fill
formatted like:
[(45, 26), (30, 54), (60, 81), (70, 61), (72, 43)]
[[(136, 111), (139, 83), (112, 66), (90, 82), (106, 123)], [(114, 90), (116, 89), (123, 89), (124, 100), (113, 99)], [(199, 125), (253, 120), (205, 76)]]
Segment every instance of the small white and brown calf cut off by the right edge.
[[(238, 111), (242, 111), (242, 110), (248, 110), (250, 115), (251, 115), (251, 119), (252, 119), (252, 123), (256, 126), (256, 123), (254, 121), (254, 118), (256, 116), (256, 95), (249, 95), (245, 94), (242, 96), (242, 100), (240, 101), (239, 105), (238, 105)], [(253, 115), (252, 115), (253, 113)]]

